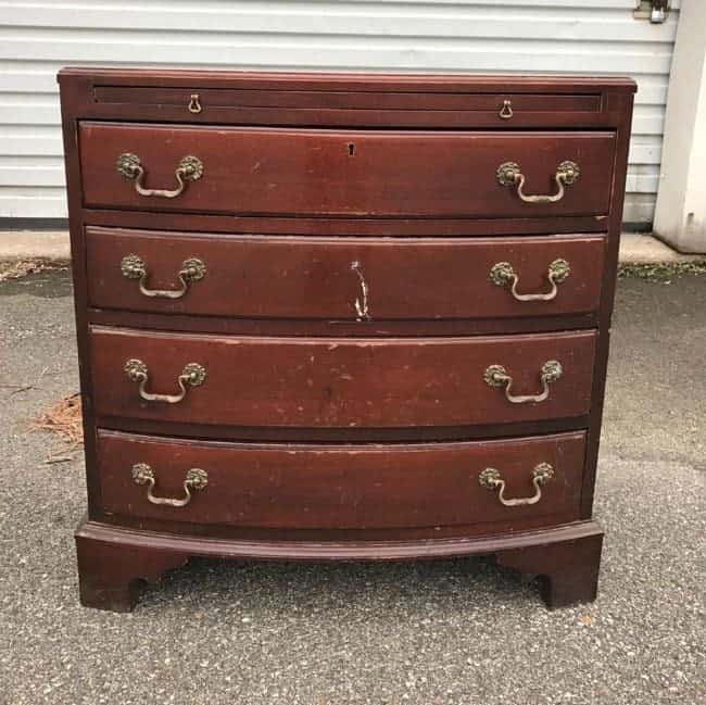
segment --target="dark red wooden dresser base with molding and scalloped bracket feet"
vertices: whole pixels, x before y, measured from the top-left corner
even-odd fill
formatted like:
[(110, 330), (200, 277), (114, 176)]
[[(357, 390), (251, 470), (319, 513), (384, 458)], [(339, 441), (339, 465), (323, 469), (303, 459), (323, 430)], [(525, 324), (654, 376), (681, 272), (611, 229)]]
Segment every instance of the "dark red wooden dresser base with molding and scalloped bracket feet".
[(84, 520), (76, 530), (80, 601), (130, 612), (140, 588), (192, 556), (261, 561), (405, 561), (495, 555), (540, 578), (550, 608), (595, 599), (603, 530), (595, 521), (481, 538), (407, 541), (247, 541), (156, 533)]

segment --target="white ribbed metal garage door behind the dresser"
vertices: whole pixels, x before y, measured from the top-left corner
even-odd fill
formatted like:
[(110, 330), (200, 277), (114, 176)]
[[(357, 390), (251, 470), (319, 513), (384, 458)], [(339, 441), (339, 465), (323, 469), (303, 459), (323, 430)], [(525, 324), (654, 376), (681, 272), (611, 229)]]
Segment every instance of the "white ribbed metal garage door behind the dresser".
[(648, 223), (678, 0), (0, 0), (0, 217), (64, 217), (64, 65), (606, 73), (640, 85), (626, 221)]

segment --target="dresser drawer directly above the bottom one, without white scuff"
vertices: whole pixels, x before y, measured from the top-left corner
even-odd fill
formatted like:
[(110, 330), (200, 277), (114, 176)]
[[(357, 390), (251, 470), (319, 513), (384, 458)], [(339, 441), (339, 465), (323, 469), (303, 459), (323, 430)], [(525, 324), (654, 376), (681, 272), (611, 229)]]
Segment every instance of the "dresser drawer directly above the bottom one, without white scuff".
[[(468, 426), (581, 416), (590, 405), (595, 337), (290, 339), (92, 327), (94, 405), (102, 417), (244, 427)], [(514, 403), (506, 394), (545, 399)]]

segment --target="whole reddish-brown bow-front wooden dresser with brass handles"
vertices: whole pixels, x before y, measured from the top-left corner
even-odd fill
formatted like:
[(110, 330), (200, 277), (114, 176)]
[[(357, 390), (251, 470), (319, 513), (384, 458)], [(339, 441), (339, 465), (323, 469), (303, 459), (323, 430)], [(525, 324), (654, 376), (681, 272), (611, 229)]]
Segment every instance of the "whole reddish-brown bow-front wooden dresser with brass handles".
[(190, 556), (595, 596), (634, 84), (68, 68), (85, 605)]

